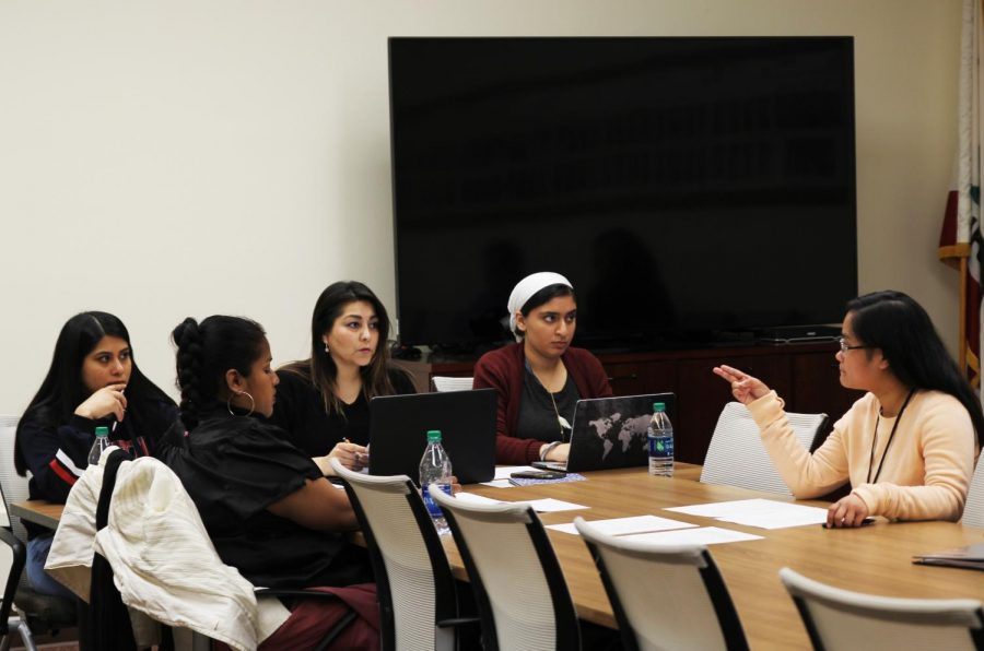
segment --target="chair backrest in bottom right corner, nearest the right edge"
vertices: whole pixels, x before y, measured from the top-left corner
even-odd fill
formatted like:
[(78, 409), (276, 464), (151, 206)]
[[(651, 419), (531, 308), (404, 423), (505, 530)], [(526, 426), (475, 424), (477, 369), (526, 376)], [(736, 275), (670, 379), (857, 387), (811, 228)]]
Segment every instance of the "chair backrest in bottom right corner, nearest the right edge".
[(971, 599), (897, 599), (841, 590), (785, 567), (815, 649), (865, 651), (984, 649), (984, 612)]

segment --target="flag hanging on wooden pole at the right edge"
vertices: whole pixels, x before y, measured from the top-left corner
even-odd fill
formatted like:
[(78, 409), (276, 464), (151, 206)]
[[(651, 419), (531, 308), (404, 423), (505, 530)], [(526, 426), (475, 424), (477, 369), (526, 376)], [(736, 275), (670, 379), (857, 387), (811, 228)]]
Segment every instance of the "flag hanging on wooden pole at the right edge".
[(984, 0), (963, 0), (960, 50), (959, 140), (947, 197), (939, 258), (960, 270), (959, 357), (974, 387), (981, 386), (981, 46)]

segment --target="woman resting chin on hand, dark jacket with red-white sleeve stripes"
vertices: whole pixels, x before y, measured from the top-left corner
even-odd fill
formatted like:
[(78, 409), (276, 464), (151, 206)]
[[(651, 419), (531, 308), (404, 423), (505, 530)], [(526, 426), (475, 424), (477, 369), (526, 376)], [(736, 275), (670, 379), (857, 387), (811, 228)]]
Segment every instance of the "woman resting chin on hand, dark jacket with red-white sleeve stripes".
[[(117, 317), (87, 311), (58, 334), (51, 366), (17, 423), (14, 465), (31, 471), (31, 499), (65, 504), (87, 465), (95, 428), (134, 457), (154, 454), (177, 419), (174, 401), (140, 372)], [(30, 522), (27, 578), (39, 592), (68, 595), (44, 571), (54, 532)]]

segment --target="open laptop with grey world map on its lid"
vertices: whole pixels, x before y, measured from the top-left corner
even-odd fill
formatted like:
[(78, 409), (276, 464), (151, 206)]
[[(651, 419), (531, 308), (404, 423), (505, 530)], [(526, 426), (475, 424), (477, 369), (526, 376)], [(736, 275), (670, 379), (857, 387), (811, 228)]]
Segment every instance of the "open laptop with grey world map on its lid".
[(567, 472), (647, 465), (646, 429), (653, 418), (654, 402), (666, 404), (666, 413), (672, 423), (677, 396), (669, 392), (578, 400), (574, 407), (567, 463), (537, 465)]

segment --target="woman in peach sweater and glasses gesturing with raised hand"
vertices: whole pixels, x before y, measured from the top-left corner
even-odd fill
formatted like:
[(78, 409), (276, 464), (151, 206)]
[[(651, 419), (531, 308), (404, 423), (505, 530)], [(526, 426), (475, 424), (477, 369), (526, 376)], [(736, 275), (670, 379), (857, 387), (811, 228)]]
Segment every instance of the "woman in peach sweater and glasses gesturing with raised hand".
[(831, 505), (829, 526), (859, 526), (868, 516), (959, 520), (984, 413), (926, 310), (901, 292), (851, 300), (836, 358), (841, 383), (868, 393), (812, 454), (796, 441), (774, 391), (736, 368), (714, 372), (748, 406), (797, 498), (851, 483), (851, 494)]

